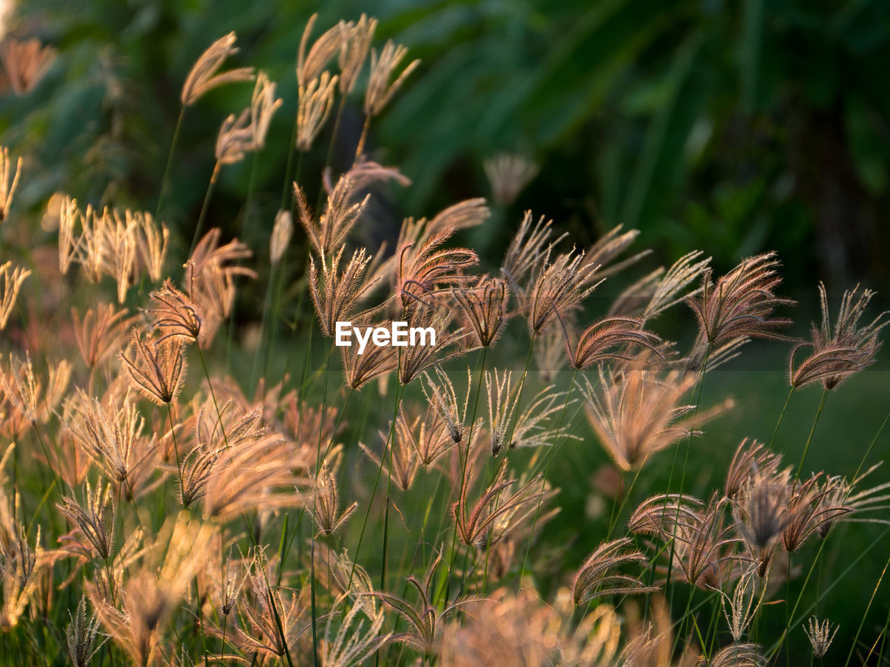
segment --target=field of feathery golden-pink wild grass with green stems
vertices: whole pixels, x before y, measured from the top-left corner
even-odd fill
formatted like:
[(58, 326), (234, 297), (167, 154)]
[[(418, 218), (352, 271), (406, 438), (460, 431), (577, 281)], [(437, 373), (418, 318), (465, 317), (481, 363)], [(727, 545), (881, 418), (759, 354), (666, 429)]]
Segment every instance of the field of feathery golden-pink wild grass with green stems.
[[(376, 238), (425, 177), (375, 140), (424, 74), (377, 25), (312, 15), (293, 99), (236, 32), (201, 44), (142, 201), (20, 205), (48, 177), (0, 135), (0, 663), (890, 661), (870, 285), (792, 299), (768, 248), (579, 241), (514, 215), (546, 170), (520, 152)], [(36, 104), (62, 55), (6, 36), (4, 94)], [(182, 142), (231, 89), (182, 221)], [(214, 205), (233, 170), (243, 213)]]

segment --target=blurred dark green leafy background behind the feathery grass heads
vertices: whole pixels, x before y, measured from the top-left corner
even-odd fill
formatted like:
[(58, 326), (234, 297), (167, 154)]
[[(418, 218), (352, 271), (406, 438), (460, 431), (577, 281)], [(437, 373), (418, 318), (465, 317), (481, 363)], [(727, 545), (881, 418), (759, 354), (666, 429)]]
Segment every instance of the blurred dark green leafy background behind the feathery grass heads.
[[(8, 32), (39, 36), (60, 54), (34, 92), (0, 95), (2, 143), (28, 156), (17, 206), (36, 213), (61, 191), (93, 205), (153, 211), (182, 81), (198, 54), (234, 29), (241, 50), (231, 64), (267, 70), (284, 106), (262, 154), (223, 168), (207, 227), (239, 234), (263, 253), (295, 114), (296, 46), (316, 10), (320, 27), (371, 13), (380, 19), (377, 45), (392, 37), (423, 60), (371, 127), (370, 154), (400, 165), (414, 181), (390, 190), (376, 208), (367, 233), (377, 240), (393, 237), (404, 216), (489, 196), (483, 160), (506, 150), (532, 157), (541, 172), (514, 205), (496, 208), (495, 221), (473, 234), (492, 266), (530, 208), (554, 218), (579, 246), (617, 224), (640, 229), (636, 249), (654, 249), (645, 269), (694, 248), (712, 255), (718, 271), (742, 256), (777, 250), (783, 292), (801, 301), (795, 314), (801, 335), (816, 316), (819, 279), (833, 296), (859, 281), (890, 293), (886, 0), (28, 0)], [(186, 116), (161, 215), (174, 229), (175, 257), (190, 243), (217, 129), (249, 96), (247, 84), (228, 86)], [(359, 105), (351, 100), (345, 108), (335, 168), (352, 161)], [(317, 146), (328, 145), (326, 132)], [(316, 150), (302, 165), (312, 192), (324, 158)], [(247, 299), (262, 301), (263, 285), (261, 276), (247, 286)], [(678, 319), (691, 322), (688, 311), (678, 313), (661, 333), (676, 334)], [(693, 443), (696, 493), (721, 486), (720, 466), (743, 436), (769, 439), (787, 395), (779, 370), (786, 353), (781, 344), (752, 345), (743, 361), (708, 375), (705, 402), (732, 394), (738, 406)], [(808, 458), (813, 469), (855, 470), (890, 408), (886, 367), (879, 364), (829, 397)], [(802, 451), (818, 401), (814, 389), (792, 400), (778, 438), (790, 460)], [(884, 432), (871, 460), (886, 456), (888, 444)], [(596, 446), (564, 451), (556, 477), (564, 509), (546, 540), (567, 545), (560, 558), (569, 572), (608, 521), (588, 516), (587, 507), (591, 472), (606, 459)], [(641, 494), (659, 487), (669, 454), (659, 463), (666, 465), (653, 463), (651, 476), (641, 478)], [(873, 483), (886, 478), (882, 468)], [(587, 517), (582, 525), (590, 535), (578, 534), (578, 517)], [(841, 623), (843, 655), (890, 540), (846, 570), (883, 530), (854, 526), (842, 539), (835, 536), (831, 558), (823, 559), (822, 589), (837, 580), (820, 610), (827, 607)], [(816, 548), (811, 543), (800, 557), (805, 569)], [(813, 599), (811, 586), (805, 604)], [(869, 646), (887, 608), (886, 591), (879, 591), (862, 631)], [(783, 607), (770, 607), (768, 618), (781, 631)], [(797, 655), (809, 655), (799, 628), (792, 642)]]

